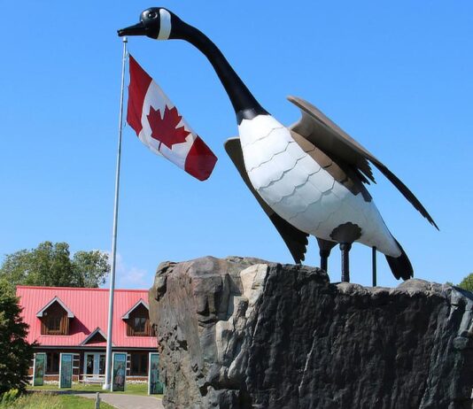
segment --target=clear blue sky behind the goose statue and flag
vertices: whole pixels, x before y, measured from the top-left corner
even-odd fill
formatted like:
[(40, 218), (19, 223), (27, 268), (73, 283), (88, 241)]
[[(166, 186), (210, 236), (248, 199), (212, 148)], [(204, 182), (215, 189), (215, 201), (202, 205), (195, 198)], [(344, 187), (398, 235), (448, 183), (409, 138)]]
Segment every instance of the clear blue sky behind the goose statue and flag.
[[(381, 159), (440, 232), (376, 172), (370, 188), (415, 275), (460, 282), (473, 271), (473, 4), (469, 1), (4, 2), (0, 75), (0, 254), (44, 240), (109, 251), (120, 96), (116, 29), (162, 5), (229, 58), (286, 124), (301, 96)], [(130, 38), (129, 51), (219, 158), (199, 182), (123, 132), (119, 287), (150, 287), (159, 262), (291, 255), (223, 150), (236, 120), (205, 58), (185, 42)], [(128, 82), (128, 76), (127, 76)], [(394, 286), (381, 256), (378, 282)], [(306, 264), (319, 264), (314, 239)], [(339, 280), (339, 251), (330, 278)], [(370, 283), (355, 245), (352, 279)]]

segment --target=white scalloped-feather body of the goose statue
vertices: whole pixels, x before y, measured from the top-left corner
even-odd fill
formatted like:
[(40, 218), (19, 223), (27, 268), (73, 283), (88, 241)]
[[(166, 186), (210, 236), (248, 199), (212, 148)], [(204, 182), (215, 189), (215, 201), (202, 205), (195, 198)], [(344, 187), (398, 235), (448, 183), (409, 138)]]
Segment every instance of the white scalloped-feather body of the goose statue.
[(284, 220), (324, 240), (347, 222), (361, 228), (358, 242), (399, 257), (395, 242), (373, 201), (353, 195), (294, 141), (270, 115), (243, 120), (238, 127), (246, 172), (260, 197)]

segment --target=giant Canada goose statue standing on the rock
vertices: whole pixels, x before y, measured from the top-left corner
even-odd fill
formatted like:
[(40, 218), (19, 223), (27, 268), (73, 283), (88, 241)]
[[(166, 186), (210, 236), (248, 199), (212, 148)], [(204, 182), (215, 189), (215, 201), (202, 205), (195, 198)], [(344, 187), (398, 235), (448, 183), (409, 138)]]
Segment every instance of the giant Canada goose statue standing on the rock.
[(330, 250), (340, 244), (344, 282), (349, 281), (348, 253), (353, 242), (383, 252), (397, 279), (413, 276), (405, 251), (384, 224), (364, 186), (374, 181), (368, 162), (433, 226), (437, 225), (402, 181), (314, 105), (290, 96), (302, 118), (291, 127), (283, 126), (252, 96), (221, 50), (165, 8), (145, 10), (138, 24), (118, 33), (185, 40), (208, 58), (236, 112), (240, 137), (229, 139), (225, 149), (296, 263), (304, 260), (307, 236), (314, 235), (325, 270)]

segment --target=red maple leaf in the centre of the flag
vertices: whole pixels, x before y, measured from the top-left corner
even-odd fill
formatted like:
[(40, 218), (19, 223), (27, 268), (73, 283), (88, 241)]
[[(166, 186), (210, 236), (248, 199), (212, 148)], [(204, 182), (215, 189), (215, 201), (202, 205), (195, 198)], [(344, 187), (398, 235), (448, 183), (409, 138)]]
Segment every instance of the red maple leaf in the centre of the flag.
[(164, 116), (161, 111), (150, 106), (150, 113), (146, 115), (151, 127), (151, 138), (164, 143), (167, 148), (172, 149), (175, 143), (183, 143), (190, 134), (184, 127), (177, 127), (182, 116), (174, 108), (169, 109), (166, 105)]

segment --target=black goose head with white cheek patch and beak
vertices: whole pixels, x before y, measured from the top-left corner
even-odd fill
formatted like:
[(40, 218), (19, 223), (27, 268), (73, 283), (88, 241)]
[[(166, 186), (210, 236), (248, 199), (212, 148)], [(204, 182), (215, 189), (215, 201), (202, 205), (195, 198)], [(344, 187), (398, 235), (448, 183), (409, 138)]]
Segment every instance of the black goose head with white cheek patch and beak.
[(146, 35), (154, 40), (176, 38), (178, 27), (182, 24), (174, 13), (163, 7), (150, 7), (140, 15), (140, 22), (134, 26), (118, 30), (120, 37), (124, 35)]

